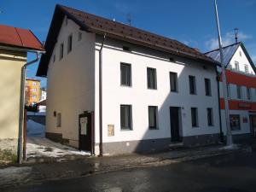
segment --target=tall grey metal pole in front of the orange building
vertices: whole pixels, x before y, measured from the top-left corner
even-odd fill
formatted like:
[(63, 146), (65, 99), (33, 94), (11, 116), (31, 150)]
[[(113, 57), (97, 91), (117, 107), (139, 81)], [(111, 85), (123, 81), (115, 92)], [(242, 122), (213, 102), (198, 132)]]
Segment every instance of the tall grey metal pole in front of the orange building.
[(218, 28), (218, 45), (219, 45), (219, 52), (220, 52), (220, 61), (221, 61), (221, 71), (222, 71), (222, 83), (223, 83), (223, 94), (224, 94), (224, 111), (225, 111), (225, 122), (226, 122), (226, 129), (227, 129), (227, 146), (233, 145), (233, 137), (232, 132), (230, 130), (230, 110), (229, 110), (229, 101), (228, 101), (228, 94), (227, 94), (227, 81), (226, 81), (226, 74), (225, 74), (225, 66), (224, 66), (224, 53), (222, 48), (222, 40), (220, 35), (220, 27), (218, 21), (218, 7), (217, 7), (217, 0), (215, 0), (215, 13), (216, 13), (216, 20), (217, 20), (217, 28)]

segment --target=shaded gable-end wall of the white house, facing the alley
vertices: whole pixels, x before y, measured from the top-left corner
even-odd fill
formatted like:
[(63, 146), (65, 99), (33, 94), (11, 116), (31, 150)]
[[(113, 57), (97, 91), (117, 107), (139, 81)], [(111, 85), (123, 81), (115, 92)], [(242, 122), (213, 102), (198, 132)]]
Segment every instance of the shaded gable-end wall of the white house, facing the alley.
[[(49, 61), (46, 131), (61, 133), (75, 147), (79, 145), (79, 114), (94, 111), (95, 35), (82, 32), (72, 20), (62, 23), (55, 49)], [(67, 38), (73, 35), (73, 49), (67, 54)], [(60, 44), (64, 56), (60, 61)], [(55, 62), (53, 57), (55, 55)], [(61, 127), (56, 126), (54, 111), (61, 113)]]

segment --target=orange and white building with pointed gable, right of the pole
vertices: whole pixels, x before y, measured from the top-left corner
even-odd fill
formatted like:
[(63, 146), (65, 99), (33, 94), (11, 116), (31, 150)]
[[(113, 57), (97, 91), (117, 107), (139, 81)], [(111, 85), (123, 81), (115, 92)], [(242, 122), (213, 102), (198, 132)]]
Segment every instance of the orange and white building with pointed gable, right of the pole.
[[(206, 55), (219, 61), (219, 49)], [(227, 67), (230, 128), (235, 139), (256, 136), (256, 68), (242, 43), (224, 47), (224, 65)], [(220, 69), (218, 69), (220, 71)], [(223, 84), (220, 79), (221, 121), (226, 134)]]

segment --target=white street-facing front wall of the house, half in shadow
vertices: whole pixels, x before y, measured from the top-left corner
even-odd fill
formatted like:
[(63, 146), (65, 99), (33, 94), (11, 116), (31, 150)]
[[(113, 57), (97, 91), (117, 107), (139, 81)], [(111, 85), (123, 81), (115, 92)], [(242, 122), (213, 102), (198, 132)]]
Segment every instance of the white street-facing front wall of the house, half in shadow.
[[(100, 43), (100, 40), (98, 42)], [(218, 86), (214, 67), (204, 69), (201, 64), (194, 61), (183, 61), (185, 65), (162, 61), (147, 55), (125, 52), (121, 49), (122, 44), (118, 42), (111, 42), (112, 47), (109, 47), (108, 43), (107, 40), (102, 54), (103, 143), (170, 138), (170, 107), (183, 108), (183, 137), (219, 133)], [(139, 48), (131, 49), (140, 52)], [(148, 55), (152, 53), (148, 52)], [(96, 54), (96, 66), (97, 58)], [(120, 86), (120, 62), (131, 64), (131, 87)], [(156, 68), (157, 90), (147, 88), (147, 67)], [(178, 93), (170, 92), (170, 72), (177, 73)], [(195, 96), (189, 94), (189, 75), (196, 77), (197, 95)], [(205, 78), (211, 79), (212, 96), (205, 95)], [(98, 101), (97, 96), (96, 101)], [(132, 131), (120, 130), (121, 104), (132, 105)], [(159, 130), (148, 130), (148, 106), (158, 106)], [(198, 128), (191, 126), (190, 108), (193, 107), (198, 108)], [(207, 125), (207, 108), (213, 109), (213, 126)], [(108, 137), (108, 125), (114, 125), (114, 137)], [(98, 131), (97, 122), (96, 131)], [(98, 137), (97, 133), (96, 137)]]

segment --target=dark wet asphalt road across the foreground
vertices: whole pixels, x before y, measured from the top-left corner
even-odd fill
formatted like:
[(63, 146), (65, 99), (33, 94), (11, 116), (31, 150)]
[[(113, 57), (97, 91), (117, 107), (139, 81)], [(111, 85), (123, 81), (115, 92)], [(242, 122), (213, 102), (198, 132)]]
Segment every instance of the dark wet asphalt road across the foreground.
[(31, 192), (255, 192), (256, 152), (2, 189)]

